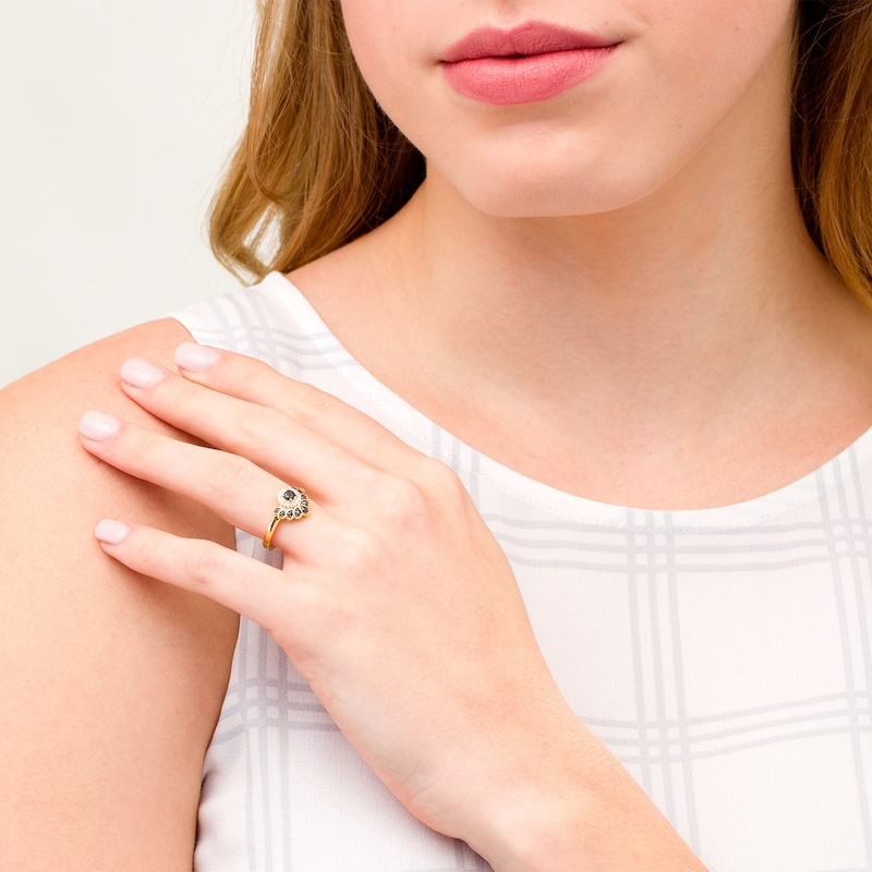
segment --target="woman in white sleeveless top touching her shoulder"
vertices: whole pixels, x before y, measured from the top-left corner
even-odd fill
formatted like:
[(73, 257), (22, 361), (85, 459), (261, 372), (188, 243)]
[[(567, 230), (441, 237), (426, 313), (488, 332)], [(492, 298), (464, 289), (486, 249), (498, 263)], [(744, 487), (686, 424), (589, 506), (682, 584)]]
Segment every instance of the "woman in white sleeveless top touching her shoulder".
[(5, 865), (872, 869), (872, 4), (341, 12), (4, 397)]

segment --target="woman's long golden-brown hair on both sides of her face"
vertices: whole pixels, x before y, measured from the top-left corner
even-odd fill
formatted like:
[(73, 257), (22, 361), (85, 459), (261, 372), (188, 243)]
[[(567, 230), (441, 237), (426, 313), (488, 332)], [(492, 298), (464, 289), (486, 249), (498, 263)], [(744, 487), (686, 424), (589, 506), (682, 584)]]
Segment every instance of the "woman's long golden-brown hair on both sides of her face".
[[(258, 0), (249, 123), (211, 209), (218, 259), (259, 279), (377, 227), (424, 178), (351, 55), (338, 0)], [(872, 308), (872, 0), (798, 0), (794, 173), (809, 232)]]

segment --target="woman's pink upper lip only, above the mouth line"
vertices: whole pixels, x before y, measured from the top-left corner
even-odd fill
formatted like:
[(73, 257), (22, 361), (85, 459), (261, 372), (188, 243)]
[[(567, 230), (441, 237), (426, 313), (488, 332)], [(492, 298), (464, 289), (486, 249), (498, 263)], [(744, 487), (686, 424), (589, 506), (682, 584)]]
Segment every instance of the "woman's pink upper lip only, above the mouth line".
[(476, 58), (507, 58), (524, 55), (545, 55), (550, 51), (571, 51), (581, 48), (607, 48), (619, 43), (570, 31), (555, 24), (528, 22), (509, 31), (498, 27), (480, 27), (443, 52), (444, 63), (469, 61)]

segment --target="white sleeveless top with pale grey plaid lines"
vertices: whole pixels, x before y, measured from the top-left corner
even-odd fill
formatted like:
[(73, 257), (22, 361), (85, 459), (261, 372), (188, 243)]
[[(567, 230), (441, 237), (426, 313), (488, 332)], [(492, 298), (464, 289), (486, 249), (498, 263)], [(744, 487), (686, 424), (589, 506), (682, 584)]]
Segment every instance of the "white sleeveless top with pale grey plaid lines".
[[(759, 499), (621, 508), (531, 481), (440, 429), (279, 274), (173, 317), (453, 468), (511, 560), (569, 703), (712, 872), (872, 870), (872, 432)], [(238, 549), (276, 554), (244, 533)], [(195, 864), (488, 868), (402, 808), (245, 619), (206, 755)]]

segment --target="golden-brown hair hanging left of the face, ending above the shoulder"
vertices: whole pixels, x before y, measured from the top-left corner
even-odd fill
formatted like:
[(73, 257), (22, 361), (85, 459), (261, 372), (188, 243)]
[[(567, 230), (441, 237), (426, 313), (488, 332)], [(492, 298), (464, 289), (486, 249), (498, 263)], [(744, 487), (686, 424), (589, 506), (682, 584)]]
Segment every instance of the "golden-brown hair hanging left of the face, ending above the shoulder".
[(218, 259), (256, 279), (377, 227), (424, 178), (358, 71), (338, 0), (258, 0), (258, 11), (249, 123), (209, 225)]

